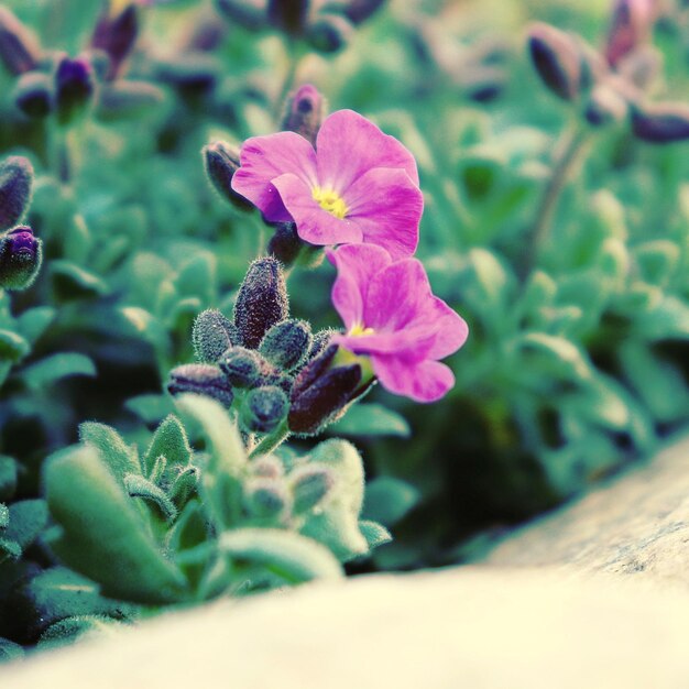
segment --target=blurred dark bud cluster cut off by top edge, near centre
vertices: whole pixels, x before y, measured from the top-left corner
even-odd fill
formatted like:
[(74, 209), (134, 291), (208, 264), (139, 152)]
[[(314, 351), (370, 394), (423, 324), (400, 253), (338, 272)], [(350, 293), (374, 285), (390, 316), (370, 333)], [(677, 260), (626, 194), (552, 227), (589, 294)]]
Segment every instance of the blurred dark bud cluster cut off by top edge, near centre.
[(232, 23), (249, 31), (275, 29), (320, 53), (335, 53), (384, 1), (217, 0), (217, 6)]

